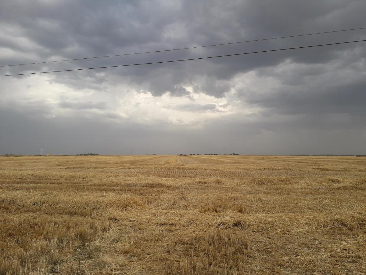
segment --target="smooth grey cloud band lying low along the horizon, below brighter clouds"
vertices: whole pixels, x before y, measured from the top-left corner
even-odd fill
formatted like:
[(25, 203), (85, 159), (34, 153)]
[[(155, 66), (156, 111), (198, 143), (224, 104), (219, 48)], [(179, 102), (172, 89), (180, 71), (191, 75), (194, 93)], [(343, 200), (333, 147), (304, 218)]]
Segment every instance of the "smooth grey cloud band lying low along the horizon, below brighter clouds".
[[(221, 153), (223, 146), (225, 151), (241, 154), (357, 154), (366, 150), (364, 130), (350, 127), (340, 117), (316, 121), (315, 116), (311, 118), (317, 124), (314, 128), (309, 118), (241, 116), (238, 120), (234, 115), (206, 123), (204, 131), (163, 124), (152, 128), (128, 121), (115, 124), (98, 117), (40, 121), (11, 109), (0, 110), (0, 117), (0, 127), (6, 130), (0, 132), (3, 154), (37, 154), (39, 148), (53, 154), (128, 154), (131, 147), (137, 154)], [(308, 125), (304, 128), (303, 123)]]

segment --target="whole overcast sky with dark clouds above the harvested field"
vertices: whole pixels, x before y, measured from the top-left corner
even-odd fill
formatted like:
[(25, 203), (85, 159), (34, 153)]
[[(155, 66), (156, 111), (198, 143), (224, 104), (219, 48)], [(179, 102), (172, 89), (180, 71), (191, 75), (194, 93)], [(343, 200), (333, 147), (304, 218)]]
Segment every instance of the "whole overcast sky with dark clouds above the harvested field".
[[(0, 66), (366, 27), (360, 1), (0, 1)], [(366, 29), (0, 74), (366, 39)], [(366, 154), (366, 42), (0, 77), (0, 154)]]

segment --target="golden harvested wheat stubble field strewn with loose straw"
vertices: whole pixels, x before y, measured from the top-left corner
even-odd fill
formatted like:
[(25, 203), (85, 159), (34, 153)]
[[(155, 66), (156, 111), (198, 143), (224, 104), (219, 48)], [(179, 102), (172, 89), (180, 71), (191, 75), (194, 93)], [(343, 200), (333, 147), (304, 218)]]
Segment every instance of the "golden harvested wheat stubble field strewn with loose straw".
[(366, 158), (0, 157), (0, 274), (365, 274)]

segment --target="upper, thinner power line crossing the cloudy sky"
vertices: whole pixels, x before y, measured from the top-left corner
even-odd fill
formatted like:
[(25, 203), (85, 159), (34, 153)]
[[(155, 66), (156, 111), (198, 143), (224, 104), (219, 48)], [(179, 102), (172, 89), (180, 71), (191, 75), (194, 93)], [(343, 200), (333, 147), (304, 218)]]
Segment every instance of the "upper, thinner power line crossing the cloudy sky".
[(222, 44), (212, 44), (212, 45), (204, 45), (204, 46), (196, 46), (196, 47), (187, 47), (187, 48), (164, 49), (164, 50), (149, 51), (149, 52), (135, 52), (135, 53), (132, 53), (132, 54), (103, 55), (103, 56), (94, 56), (94, 57), (85, 57), (85, 58), (75, 58), (75, 59), (64, 59), (64, 60), (55, 60), (55, 61), (44, 61), (44, 62), (34, 62), (34, 63), (23, 63), (23, 64), (14, 64), (14, 65), (4, 65), (4, 66), (0, 66), (0, 68), (3, 68), (3, 67), (11, 67), (11, 66), (45, 64), (45, 63), (53, 63), (53, 62), (85, 60), (85, 59), (108, 58), (108, 57), (126, 56), (126, 55), (153, 54), (153, 53), (157, 53), (157, 52), (179, 51), (179, 50), (183, 50), (183, 49), (197, 49), (197, 48), (223, 46), (223, 45), (231, 45), (231, 44), (239, 44), (239, 43), (257, 42), (257, 41), (266, 41), (266, 40), (274, 40), (274, 39), (282, 39), (282, 38), (309, 36), (309, 35), (315, 35), (315, 34), (348, 32), (348, 31), (351, 31), (351, 30), (363, 30), (363, 29), (366, 29), (366, 27), (354, 28), (354, 29), (346, 29), (346, 30), (332, 30), (332, 31), (329, 31), (329, 32), (320, 32), (320, 33), (296, 34), (296, 35), (290, 35), (290, 36), (271, 37), (271, 38), (254, 39), (254, 40), (246, 40), (246, 41), (238, 41), (238, 42), (230, 42), (230, 43), (222, 43)]

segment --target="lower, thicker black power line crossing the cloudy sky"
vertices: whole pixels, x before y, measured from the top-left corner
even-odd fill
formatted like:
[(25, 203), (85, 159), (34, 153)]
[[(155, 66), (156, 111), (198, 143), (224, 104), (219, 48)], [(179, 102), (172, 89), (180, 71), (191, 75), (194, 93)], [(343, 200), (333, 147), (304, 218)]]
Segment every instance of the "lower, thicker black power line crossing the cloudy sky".
[[(302, 47), (294, 47), (294, 48), (270, 49), (270, 50), (266, 50), (266, 51), (243, 52), (243, 53), (240, 53), (240, 54), (227, 54), (227, 55), (216, 55), (216, 56), (188, 58), (188, 59), (177, 59), (177, 60), (148, 62), (148, 63), (135, 63), (135, 64), (127, 64), (127, 65), (92, 67), (92, 68), (60, 70), (60, 71), (48, 71), (48, 72), (36, 72), (36, 73), (5, 74), (3, 76), (24, 76), (26, 74), (60, 73), (60, 72), (72, 72), (72, 71), (81, 71), (81, 70), (93, 70), (93, 69), (105, 69), (105, 68), (115, 68), (115, 67), (128, 67), (128, 66), (138, 66), (138, 65), (172, 63), (172, 62), (180, 62), (180, 61), (188, 61), (188, 60), (200, 60), (200, 59), (209, 59), (209, 58), (219, 58), (219, 57), (225, 57), (225, 56), (236, 56), (236, 55), (246, 55), (246, 54), (259, 54), (259, 53), (263, 53), (263, 52), (285, 51), (285, 50), (290, 50), (290, 49), (303, 49), (303, 48), (313, 48), (313, 47), (321, 47), (321, 46), (329, 46), (329, 45), (349, 44), (349, 43), (364, 42), (364, 41), (366, 41), (366, 40), (355, 40), (355, 41), (337, 42), (337, 43), (320, 44), (320, 45), (310, 45), (310, 46), (302, 46)], [(3, 77), (3, 76), (0, 76), (0, 77)]]

